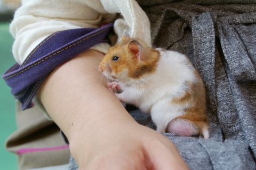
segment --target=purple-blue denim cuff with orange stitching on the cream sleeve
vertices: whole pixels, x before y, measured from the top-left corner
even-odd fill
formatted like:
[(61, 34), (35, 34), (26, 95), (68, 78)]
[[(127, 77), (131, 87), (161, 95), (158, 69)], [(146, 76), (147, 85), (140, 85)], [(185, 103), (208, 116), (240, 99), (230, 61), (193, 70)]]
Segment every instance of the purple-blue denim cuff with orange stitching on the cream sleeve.
[(45, 38), (21, 64), (15, 64), (4, 72), (3, 78), (12, 90), (15, 99), (21, 102), (21, 109), (33, 106), (38, 87), (55, 68), (86, 49), (108, 42), (105, 38), (113, 23), (95, 28), (78, 28), (58, 31)]

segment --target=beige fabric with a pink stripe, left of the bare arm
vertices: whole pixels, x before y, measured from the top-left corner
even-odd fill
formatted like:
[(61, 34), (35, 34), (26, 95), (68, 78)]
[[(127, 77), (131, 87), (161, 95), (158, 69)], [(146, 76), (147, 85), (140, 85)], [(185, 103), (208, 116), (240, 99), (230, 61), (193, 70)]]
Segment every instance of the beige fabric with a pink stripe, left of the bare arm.
[(47, 120), (37, 107), (22, 111), (18, 101), (16, 106), (17, 131), (8, 137), (6, 149), (17, 153), (18, 168), (68, 164), (70, 151), (59, 127)]

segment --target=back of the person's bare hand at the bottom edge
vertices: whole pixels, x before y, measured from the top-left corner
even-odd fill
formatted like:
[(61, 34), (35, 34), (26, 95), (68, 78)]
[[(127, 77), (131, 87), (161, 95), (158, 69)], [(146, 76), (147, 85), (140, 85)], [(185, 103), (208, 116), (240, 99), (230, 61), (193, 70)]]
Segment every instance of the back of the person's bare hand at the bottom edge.
[(90, 157), (80, 159), (79, 169), (188, 169), (174, 144), (148, 127), (135, 123), (95, 135), (98, 141), (90, 147)]

